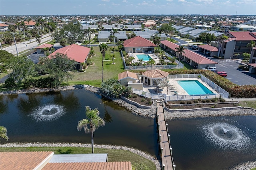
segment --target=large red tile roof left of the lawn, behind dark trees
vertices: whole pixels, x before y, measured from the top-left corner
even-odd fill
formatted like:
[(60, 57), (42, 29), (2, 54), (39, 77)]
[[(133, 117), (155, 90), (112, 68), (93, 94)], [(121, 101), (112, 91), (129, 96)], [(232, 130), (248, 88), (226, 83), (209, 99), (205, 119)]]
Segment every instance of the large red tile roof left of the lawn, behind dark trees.
[(90, 52), (90, 48), (83, 47), (81, 45), (72, 44), (66, 47), (62, 47), (54, 51), (48, 57), (50, 58), (52, 55), (56, 53), (66, 54), (70, 59), (74, 59), (78, 63), (83, 63)]

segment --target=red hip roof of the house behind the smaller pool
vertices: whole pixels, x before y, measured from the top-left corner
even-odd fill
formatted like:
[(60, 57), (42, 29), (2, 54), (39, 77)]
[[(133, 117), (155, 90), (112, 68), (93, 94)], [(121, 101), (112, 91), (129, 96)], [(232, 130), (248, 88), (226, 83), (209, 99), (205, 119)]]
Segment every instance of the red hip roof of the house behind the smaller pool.
[(145, 38), (136, 36), (124, 41), (124, 47), (156, 47), (156, 45)]

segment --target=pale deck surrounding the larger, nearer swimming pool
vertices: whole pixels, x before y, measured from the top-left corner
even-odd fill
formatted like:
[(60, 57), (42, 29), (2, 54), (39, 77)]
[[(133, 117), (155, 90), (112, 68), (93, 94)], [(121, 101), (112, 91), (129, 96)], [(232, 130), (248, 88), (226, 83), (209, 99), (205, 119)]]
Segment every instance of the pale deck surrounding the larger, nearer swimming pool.
[[(210, 91), (212, 91), (214, 94), (217, 94), (212, 87), (204, 83), (201, 79), (198, 78), (186, 78), (186, 79), (168, 79), (167, 82), (169, 84), (169, 88), (167, 90), (167, 87), (164, 87), (163, 89), (160, 89), (161, 93), (164, 93), (166, 95), (189, 95), (180, 85), (177, 81), (184, 81), (184, 80), (198, 80), (200, 83), (202, 83), (205, 87), (207, 87)], [(154, 91), (155, 87), (145, 86), (143, 87), (143, 91), (148, 93), (156, 94), (157, 92)], [(175, 93), (176, 91), (176, 93)]]

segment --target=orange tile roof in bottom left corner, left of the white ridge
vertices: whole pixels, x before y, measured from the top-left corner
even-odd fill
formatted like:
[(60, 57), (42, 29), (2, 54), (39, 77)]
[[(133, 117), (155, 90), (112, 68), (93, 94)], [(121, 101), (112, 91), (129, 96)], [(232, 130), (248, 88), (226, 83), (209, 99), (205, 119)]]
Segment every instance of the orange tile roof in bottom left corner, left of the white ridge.
[(1, 152), (1, 170), (32, 170), (54, 152)]

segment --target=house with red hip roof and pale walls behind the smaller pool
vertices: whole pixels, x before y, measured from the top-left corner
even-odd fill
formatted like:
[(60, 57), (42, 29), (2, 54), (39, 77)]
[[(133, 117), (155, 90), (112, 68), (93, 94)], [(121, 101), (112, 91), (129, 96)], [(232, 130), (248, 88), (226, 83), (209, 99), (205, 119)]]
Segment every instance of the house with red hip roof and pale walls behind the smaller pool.
[(126, 52), (132, 52), (132, 53), (144, 53), (144, 52), (154, 53), (154, 48), (156, 47), (154, 43), (140, 36), (136, 36), (134, 38), (125, 40), (123, 45), (124, 45), (124, 50)]

